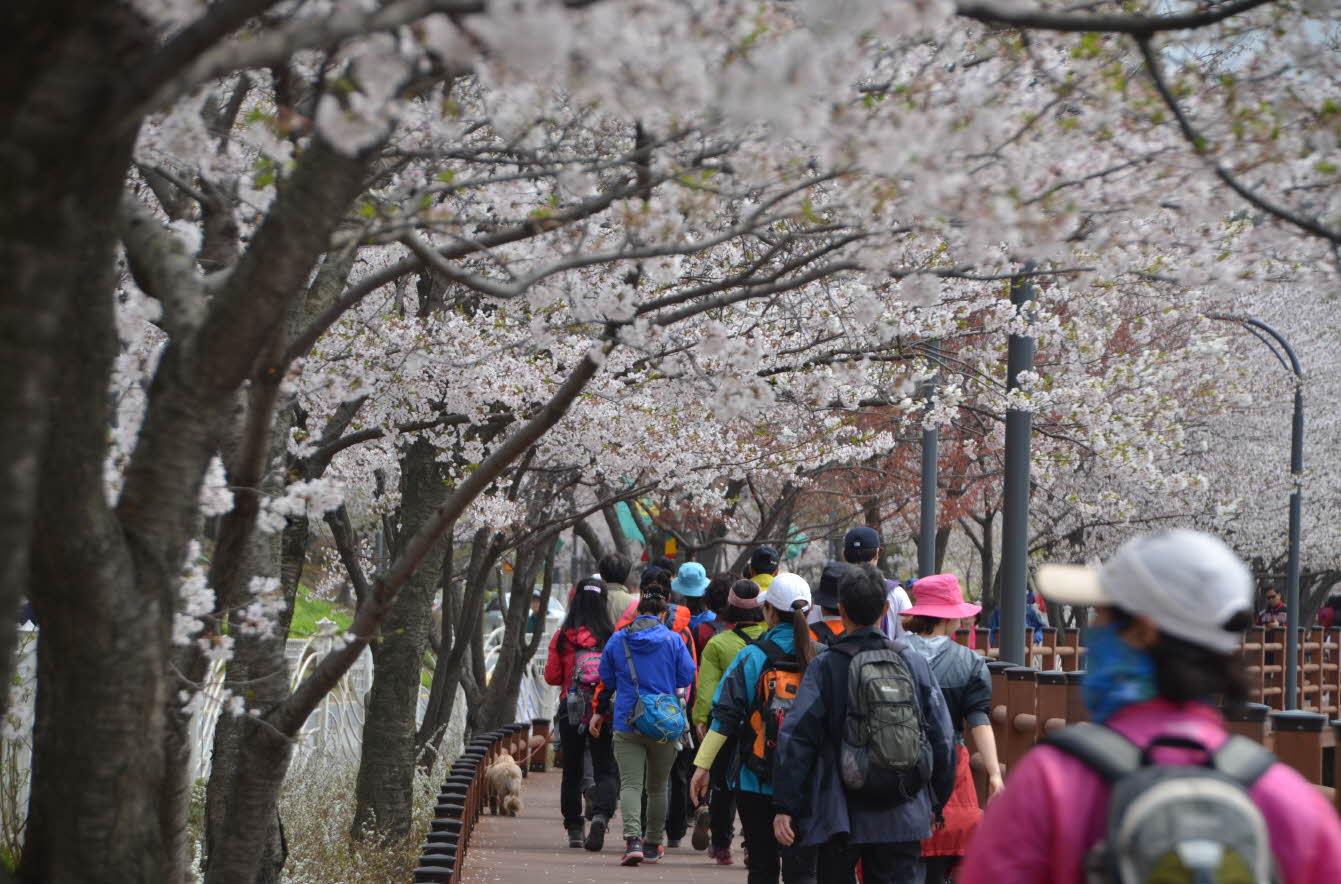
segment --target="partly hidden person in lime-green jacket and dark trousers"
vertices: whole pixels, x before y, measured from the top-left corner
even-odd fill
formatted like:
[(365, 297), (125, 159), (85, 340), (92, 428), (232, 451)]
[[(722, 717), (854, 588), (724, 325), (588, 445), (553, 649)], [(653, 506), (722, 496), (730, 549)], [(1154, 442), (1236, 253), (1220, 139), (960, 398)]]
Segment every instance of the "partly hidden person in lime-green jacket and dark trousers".
[[(708, 640), (699, 657), (699, 680), (695, 685), (693, 726), (700, 739), (708, 732), (712, 720), (712, 698), (717, 695), (717, 684), (723, 673), (746, 645), (764, 633), (762, 598), (759, 585), (751, 579), (738, 579), (727, 593), (727, 606), (723, 612), (725, 629)], [(728, 783), (731, 762), (735, 759), (735, 735), (727, 738), (712, 765), (709, 785), (711, 798), (708, 813), (701, 808), (693, 817), (693, 849), (707, 850), (708, 859), (717, 865), (731, 865), (731, 842), (735, 838), (736, 797)]]

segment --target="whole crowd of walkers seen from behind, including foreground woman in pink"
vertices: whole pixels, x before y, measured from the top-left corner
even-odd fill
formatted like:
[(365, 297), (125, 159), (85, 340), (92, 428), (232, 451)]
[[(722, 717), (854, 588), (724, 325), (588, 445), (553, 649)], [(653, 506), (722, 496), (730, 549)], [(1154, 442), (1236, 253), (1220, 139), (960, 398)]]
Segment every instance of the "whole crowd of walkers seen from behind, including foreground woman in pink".
[[(1230, 739), (1208, 702), (1246, 698), (1232, 652), (1254, 620), (1251, 578), (1223, 543), (1163, 533), (1101, 571), (1041, 570), (1031, 612), (1043, 598), (1094, 612), (1094, 724), (1045, 740), (1010, 789), (986, 660), (955, 640), (980, 606), (952, 574), (913, 582), (911, 598), (876, 567), (880, 551), (874, 529), (853, 529), (814, 588), (768, 546), (740, 575), (658, 559), (636, 588), (626, 557), (603, 557), (574, 586), (546, 665), (563, 691), (569, 845), (601, 850), (618, 810), (630, 867), (687, 836), (734, 865), (739, 820), (748, 884), (1302, 884), (1341, 868), (1341, 824), (1317, 789)], [(1270, 612), (1283, 617), (1278, 597)], [(1230, 791), (1195, 813), (1160, 791), (1176, 781), (1202, 795), (1214, 777)], [(1156, 794), (1164, 817), (1147, 809)], [(1122, 841), (1116, 822), (1144, 834)]]

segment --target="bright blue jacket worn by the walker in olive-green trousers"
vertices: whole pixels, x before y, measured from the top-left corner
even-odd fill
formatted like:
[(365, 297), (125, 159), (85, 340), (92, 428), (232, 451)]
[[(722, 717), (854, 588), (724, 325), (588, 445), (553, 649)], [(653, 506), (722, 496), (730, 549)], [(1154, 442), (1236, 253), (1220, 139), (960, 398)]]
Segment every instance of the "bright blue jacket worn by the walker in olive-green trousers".
[[(628, 647), (633, 665), (638, 671), (638, 688), (629, 675)], [(601, 683), (605, 691), (614, 691), (611, 724), (617, 731), (630, 731), (629, 712), (638, 692), (675, 694), (693, 684), (695, 665), (684, 639), (675, 634), (650, 614), (636, 617), (624, 629), (610, 636), (601, 653)]]

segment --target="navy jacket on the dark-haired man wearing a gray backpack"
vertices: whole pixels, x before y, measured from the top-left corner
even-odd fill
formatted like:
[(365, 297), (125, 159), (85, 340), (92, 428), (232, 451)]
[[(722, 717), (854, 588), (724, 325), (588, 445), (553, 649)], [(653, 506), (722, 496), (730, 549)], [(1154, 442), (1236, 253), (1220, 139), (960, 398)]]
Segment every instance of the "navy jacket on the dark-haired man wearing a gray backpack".
[[(862, 651), (888, 647), (873, 626), (842, 636), (837, 644), (858, 643)], [(900, 643), (917, 683), (927, 736), (932, 750), (931, 785), (916, 798), (892, 808), (864, 806), (848, 795), (838, 770), (838, 747), (848, 715), (848, 667), (852, 657), (826, 649), (806, 669), (787, 718), (782, 722), (774, 759), (772, 804), (790, 814), (801, 844), (830, 838), (850, 844), (920, 841), (931, 836), (935, 812), (955, 790), (955, 728), (927, 659)]]

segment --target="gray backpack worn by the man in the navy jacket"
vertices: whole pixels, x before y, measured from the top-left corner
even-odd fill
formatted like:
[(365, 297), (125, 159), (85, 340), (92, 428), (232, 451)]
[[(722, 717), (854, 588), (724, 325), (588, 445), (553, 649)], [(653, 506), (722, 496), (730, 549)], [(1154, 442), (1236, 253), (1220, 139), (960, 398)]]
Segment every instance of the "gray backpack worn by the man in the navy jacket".
[(881, 806), (911, 801), (931, 782), (931, 740), (901, 647), (888, 643), (861, 651), (846, 641), (830, 647), (852, 657), (839, 747), (842, 785), (849, 795)]

